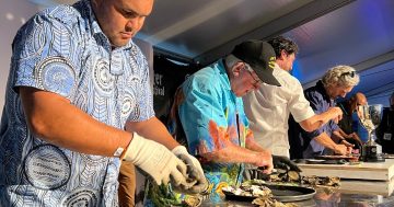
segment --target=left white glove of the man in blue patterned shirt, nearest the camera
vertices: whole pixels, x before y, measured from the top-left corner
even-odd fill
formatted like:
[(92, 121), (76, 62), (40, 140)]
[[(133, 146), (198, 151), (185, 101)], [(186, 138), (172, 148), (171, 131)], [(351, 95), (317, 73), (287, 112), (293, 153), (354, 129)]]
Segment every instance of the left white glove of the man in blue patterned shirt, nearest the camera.
[(186, 183), (186, 164), (167, 148), (134, 133), (132, 140), (124, 153), (123, 160), (130, 161), (155, 181), (158, 185)]

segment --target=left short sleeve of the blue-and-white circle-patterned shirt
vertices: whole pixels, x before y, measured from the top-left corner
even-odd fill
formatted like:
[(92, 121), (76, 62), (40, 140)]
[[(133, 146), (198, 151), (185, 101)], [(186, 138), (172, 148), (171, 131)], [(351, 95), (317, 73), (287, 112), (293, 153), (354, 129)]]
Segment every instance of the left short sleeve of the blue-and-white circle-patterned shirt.
[(18, 32), (11, 60), (13, 87), (33, 87), (65, 97), (73, 94), (83, 49), (74, 36), (78, 32), (68, 24), (72, 20), (61, 22), (40, 13)]

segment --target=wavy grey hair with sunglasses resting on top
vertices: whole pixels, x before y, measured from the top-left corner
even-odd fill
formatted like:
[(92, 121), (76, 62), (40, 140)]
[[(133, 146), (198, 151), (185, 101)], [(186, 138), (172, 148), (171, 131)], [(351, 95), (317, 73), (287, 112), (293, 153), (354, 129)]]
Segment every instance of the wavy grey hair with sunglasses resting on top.
[(360, 77), (350, 66), (336, 66), (328, 69), (323, 76), (322, 82), (324, 87), (355, 87), (360, 82)]

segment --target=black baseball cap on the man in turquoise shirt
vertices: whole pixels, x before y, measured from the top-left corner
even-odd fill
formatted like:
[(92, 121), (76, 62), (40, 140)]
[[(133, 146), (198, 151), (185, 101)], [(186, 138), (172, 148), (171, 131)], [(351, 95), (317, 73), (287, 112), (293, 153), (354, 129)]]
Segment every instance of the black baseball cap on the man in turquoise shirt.
[(236, 45), (231, 54), (248, 64), (263, 82), (280, 87), (273, 74), (276, 55), (269, 43), (257, 39), (245, 41)]

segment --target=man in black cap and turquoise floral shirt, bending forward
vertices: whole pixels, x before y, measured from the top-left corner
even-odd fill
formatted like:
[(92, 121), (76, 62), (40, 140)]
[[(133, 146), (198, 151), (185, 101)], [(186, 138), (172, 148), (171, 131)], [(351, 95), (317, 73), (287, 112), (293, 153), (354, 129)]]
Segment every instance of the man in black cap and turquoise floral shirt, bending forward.
[[(262, 82), (280, 85), (273, 76), (274, 61), (268, 43), (246, 41), (190, 76), (176, 93), (170, 130), (199, 158), (210, 183), (210, 199), (223, 186), (241, 184), (245, 163), (266, 173), (273, 170), (270, 152), (255, 142), (248, 128), (241, 96)], [(289, 160), (274, 158), (274, 162)]]

